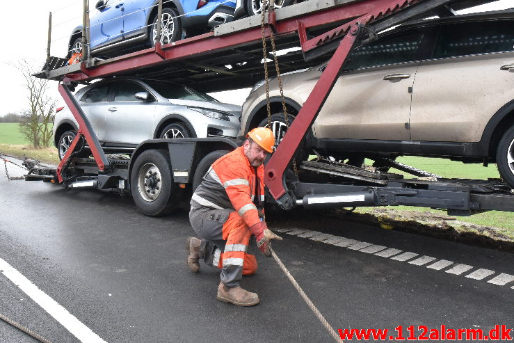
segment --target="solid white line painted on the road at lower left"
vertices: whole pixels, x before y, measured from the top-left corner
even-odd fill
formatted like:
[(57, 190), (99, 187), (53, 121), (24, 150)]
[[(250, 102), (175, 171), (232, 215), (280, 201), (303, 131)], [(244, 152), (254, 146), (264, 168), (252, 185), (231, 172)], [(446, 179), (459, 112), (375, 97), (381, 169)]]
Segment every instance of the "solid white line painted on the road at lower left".
[(68, 312), (63, 306), (59, 305), (54, 299), (50, 298), (45, 292), (34, 285), (29, 279), (25, 278), (10, 264), (0, 258), (0, 271), (11, 280), (26, 295), (30, 296), (35, 303), (47, 311), (51, 317), (61, 323), (70, 333), (77, 337), (81, 342), (105, 342), (90, 328), (85, 326), (76, 317)]

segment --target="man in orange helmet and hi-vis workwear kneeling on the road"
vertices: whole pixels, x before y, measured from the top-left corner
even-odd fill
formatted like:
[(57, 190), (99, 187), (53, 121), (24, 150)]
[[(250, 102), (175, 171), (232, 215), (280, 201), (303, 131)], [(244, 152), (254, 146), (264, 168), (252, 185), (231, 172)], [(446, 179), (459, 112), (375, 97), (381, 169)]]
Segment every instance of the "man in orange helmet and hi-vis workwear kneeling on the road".
[(219, 301), (240, 306), (259, 303), (259, 296), (239, 287), (243, 275), (257, 271), (257, 260), (247, 253), (250, 236), (259, 250), (271, 256), (269, 241), (280, 239), (264, 221), (264, 166), (275, 138), (270, 129), (257, 127), (243, 146), (220, 157), (205, 174), (191, 198), (189, 220), (200, 239), (189, 237), (187, 264), (194, 273), (202, 258), (221, 269)]

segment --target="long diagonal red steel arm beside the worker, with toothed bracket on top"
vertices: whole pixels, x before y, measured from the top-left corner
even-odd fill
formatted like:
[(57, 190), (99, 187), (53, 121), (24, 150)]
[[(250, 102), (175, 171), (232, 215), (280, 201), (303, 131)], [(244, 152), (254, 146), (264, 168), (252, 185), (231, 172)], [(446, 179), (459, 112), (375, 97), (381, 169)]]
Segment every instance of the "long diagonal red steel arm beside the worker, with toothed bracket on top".
[[(266, 164), (266, 170), (264, 178), (266, 186), (271, 193), (271, 196), (275, 198), (278, 205), (284, 209), (291, 209), (295, 205), (295, 197), (291, 191), (287, 190), (284, 173), (287, 170), (289, 163), (294, 157), (300, 142), (305, 137), (305, 134), (311, 127), (312, 123), (316, 119), (319, 111), (323, 107), (330, 91), (332, 90), (339, 73), (342, 70), (344, 62), (348, 57), (348, 54), (353, 49), (355, 42), (358, 41), (358, 36), (361, 31), (365, 29), (365, 25), (371, 22), (376, 22), (380, 19), (385, 19), (393, 13), (397, 13), (400, 10), (404, 10), (414, 5), (419, 4), (418, 11), (410, 11), (408, 15), (404, 15), (401, 19), (405, 20), (409, 17), (425, 12), (430, 8), (440, 6), (444, 2), (448, 1), (426, 1), (428, 5), (421, 6), (421, 2), (424, 0), (367, 0), (360, 1), (359, 6), (344, 6), (346, 10), (346, 18), (353, 19), (337, 29), (332, 29), (327, 33), (320, 35), (316, 38), (307, 40), (307, 34), (303, 29), (303, 24), (298, 22), (298, 34), (300, 35), (300, 42), (304, 54), (316, 47), (320, 47), (328, 42), (334, 42), (338, 38), (342, 38), (342, 41), (337, 47), (332, 58), (328, 62), (326, 69), (323, 71), (320, 79), (314, 86), (314, 89), (310, 93), (307, 101), (303, 104), (302, 109), (296, 115), (294, 122), (291, 127), (287, 130), (284, 138), (277, 147), (277, 150), (273, 153), (271, 159)], [(362, 12), (365, 10), (364, 12)], [(420, 12), (421, 11), (421, 12)], [(344, 18), (341, 18), (344, 19)], [(387, 27), (387, 26), (386, 26)]]

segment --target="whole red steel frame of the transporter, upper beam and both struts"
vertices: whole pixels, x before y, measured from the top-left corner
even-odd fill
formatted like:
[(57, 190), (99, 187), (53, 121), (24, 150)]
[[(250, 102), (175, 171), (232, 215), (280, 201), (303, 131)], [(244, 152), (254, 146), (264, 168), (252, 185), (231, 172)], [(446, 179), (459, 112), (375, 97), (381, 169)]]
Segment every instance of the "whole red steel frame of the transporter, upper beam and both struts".
[[(298, 33), (300, 37), (300, 45), (304, 52), (319, 47), (326, 42), (331, 42), (332, 40), (343, 37), (339, 47), (335, 51), (335, 54), (332, 56), (326, 69), (323, 71), (321, 78), (316, 83), (316, 86), (314, 86), (312, 93), (307, 98), (305, 104), (303, 104), (302, 109), (296, 116), (296, 119), (287, 131), (287, 134), (284, 136), (280, 145), (278, 145), (277, 150), (266, 165), (266, 173), (264, 175), (266, 186), (268, 186), (273, 198), (278, 200), (282, 207), (290, 208), (294, 206), (294, 198), (287, 195), (287, 187), (284, 182), (284, 172), (287, 170), (287, 167), (289, 166), (298, 145), (305, 136), (305, 133), (309, 130), (330, 94), (330, 90), (332, 90), (332, 87), (337, 80), (346, 57), (358, 39), (360, 26), (382, 19), (388, 15), (392, 15), (405, 7), (421, 1), (423, 0), (363, 0), (335, 8), (328, 8), (316, 13), (309, 13), (307, 15), (300, 15), (291, 19), (284, 19), (280, 22), (276, 22), (275, 13), (269, 13), (269, 26), (273, 28), (273, 31), (275, 31), (275, 35)], [(444, 2), (444, 0), (441, 1)], [(306, 29), (332, 22), (344, 21), (345, 19), (353, 20), (336, 29), (328, 31), (319, 37), (312, 38), (310, 40), (307, 39)], [(268, 30), (271, 29), (269, 26)], [(81, 72), (67, 74), (66, 81), (87, 81), (89, 79), (96, 79), (99, 77), (109, 77), (119, 72), (127, 72), (130, 70), (135, 71), (146, 67), (164, 65), (170, 60), (179, 61), (191, 56), (198, 56), (206, 51), (223, 51), (223, 49), (234, 48), (239, 45), (244, 45), (248, 42), (256, 42), (261, 39), (262, 31), (260, 27), (223, 36), (214, 36), (214, 33), (205, 33), (204, 35), (198, 35), (186, 40), (172, 42), (168, 45), (161, 46), (160, 44), (157, 44), (156, 47), (152, 49), (145, 49), (133, 54), (113, 58), (109, 63), (97, 65), (95, 67), (87, 68), (86, 65), (82, 63)], [(106, 163), (109, 162), (105, 158), (104, 152), (99, 146), (96, 136), (91, 134), (90, 125), (86, 125), (87, 118), (83, 117), (83, 113), (75, 108), (76, 102), (74, 102), (74, 99), (70, 98), (70, 95), (68, 95), (69, 92), (64, 89), (63, 85), (59, 86), (59, 91), (61, 95), (63, 95), (66, 104), (72, 110), (77, 122), (79, 122), (79, 132), (77, 133), (77, 137), (74, 139), (72, 146), (66, 152), (63, 161), (61, 161), (61, 164), (57, 169), (59, 182), (62, 182), (62, 168), (65, 163), (67, 163), (67, 159), (69, 159), (70, 154), (77, 145), (81, 135), (86, 138), (86, 141), (93, 152), (93, 156), (97, 161), (99, 170), (104, 170), (106, 168)]]

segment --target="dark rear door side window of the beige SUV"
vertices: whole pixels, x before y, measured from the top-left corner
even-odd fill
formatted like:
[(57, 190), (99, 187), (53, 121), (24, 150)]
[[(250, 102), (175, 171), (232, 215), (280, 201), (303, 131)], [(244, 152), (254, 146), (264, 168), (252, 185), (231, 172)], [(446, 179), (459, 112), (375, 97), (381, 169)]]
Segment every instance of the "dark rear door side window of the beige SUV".
[(514, 50), (514, 21), (467, 22), (444, 25), (434, 58)]

